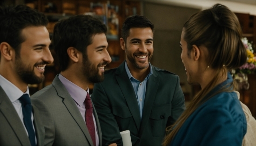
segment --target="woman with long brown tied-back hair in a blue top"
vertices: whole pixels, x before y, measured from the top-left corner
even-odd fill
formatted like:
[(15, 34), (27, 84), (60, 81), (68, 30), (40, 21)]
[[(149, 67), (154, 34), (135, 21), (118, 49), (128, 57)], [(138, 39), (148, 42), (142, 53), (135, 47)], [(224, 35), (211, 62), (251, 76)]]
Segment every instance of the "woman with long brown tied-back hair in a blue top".
[(242, 30), (228, 7), (216, 4), (184, 24), (181, 59), (189, 84), (200, 84), (187, 109), (167, 128), (163, 146), (241, 146), (246, 119), (229, 70), (247, 54)]

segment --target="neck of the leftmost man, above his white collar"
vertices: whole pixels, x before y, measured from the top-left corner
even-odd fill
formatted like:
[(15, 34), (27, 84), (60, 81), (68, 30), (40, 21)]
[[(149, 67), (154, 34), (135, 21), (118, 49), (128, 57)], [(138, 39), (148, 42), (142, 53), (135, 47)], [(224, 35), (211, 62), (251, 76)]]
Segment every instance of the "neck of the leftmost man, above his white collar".
[(0, 74), (14, 86), (17, 86), (23, 93), (27, 91), (27, 83), (21, 80), (20, 76), (13, 71), (13, 68), (10, 64), (0, 63)]

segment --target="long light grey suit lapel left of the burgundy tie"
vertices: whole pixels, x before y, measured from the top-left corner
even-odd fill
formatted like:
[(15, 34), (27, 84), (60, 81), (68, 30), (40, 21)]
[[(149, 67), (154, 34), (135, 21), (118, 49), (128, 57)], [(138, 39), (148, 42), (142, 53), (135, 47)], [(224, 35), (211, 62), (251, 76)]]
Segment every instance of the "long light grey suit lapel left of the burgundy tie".
[(59, 79), (58, 75), (53, 80), (52, 85), (55, 87), (58, 95), (63, 99), (63, 104), (67, 107), (67, 110), (69, 111), (71, 116), (74, 118), (77, 125), (81, 128), (85, 137), (88, 139), (90, 145), (93, 146), (93, 140), (91, 139), (90, 133), (81, 116), (81, 113), (78, 110), (77, 106), (75, 105), (73, 98), (67, 92), (67, 89), (65, 88), (65, 86), (61, 83), (61, 80)]

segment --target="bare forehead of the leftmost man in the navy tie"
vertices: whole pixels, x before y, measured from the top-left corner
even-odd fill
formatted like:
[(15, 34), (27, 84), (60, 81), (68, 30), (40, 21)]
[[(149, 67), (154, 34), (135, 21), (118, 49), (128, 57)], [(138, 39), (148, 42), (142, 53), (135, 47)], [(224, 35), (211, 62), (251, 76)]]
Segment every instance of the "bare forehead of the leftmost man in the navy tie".
[(21, 37), (25, 40), (21, 45), (49, 45), (51, 40), (46, 27), (26, 27), (21, 31)]

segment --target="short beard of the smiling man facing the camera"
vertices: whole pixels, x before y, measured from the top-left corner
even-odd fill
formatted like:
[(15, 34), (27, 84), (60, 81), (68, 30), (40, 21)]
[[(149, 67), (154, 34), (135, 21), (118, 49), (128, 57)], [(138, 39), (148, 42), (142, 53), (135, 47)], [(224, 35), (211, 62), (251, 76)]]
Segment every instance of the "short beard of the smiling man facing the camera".
[[(139, 52), (139, 53), (132, 54), (130, 51), (128, 51), (126, 45), (125, 45), (125, 53), (126, 53), (127, 59), (133, 64), (133, 66), (135, 66), (138, 69), (147, 68), (149, 66), (149, 62), (150, 62), (150, 60), (153, 56), (153, 53), (141, 53), (141, 52)], [(148, 55), (148, 63), (146, 63), (146, 61), (136, 62), (135, 55)]]

